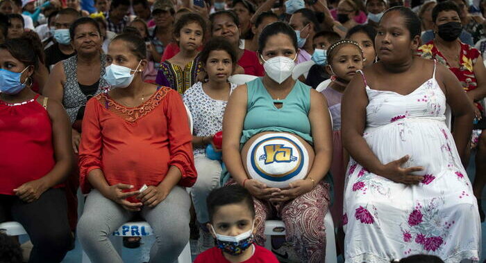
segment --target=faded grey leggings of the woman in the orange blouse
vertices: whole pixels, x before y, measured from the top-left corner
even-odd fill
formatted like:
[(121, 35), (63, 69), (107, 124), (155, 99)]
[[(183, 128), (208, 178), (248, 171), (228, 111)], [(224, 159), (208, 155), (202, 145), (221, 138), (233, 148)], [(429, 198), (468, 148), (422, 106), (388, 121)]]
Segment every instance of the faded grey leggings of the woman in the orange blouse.
[[(142, 208), (140, 215), (150, 224), (156, 242), (150, 251), (150, 262), (175, 262), (189, 241), (189, 194), (176, 185), (167, 198), (155, 208)], [(78, 222), (78, 237), (83, 249), (94, 263), (122, 263), (109, 235), (130, 221), (129, 212), (98, 190), (88, 194), (83, 215)]]

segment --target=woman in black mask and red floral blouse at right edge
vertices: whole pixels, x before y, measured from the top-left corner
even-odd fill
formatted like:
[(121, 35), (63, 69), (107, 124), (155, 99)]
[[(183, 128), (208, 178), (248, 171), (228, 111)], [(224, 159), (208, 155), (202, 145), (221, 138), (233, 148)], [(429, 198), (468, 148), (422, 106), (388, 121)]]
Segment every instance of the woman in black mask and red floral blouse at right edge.
[[(419, 55), (447, 66), (462, 84), (467, 97), (474, 103), (474, 127), (471, 136), (471, 146), (477, 148), (476, 152), (476, 176), (473, 183), (474, 195), (478, 199), (481, 220), (484, 221), (485, 214), (481, 210), (481, 192), (486, 184), (486, 119), (484, 105), (481, 101), (486, 96), (486, 68), (483, 64), (483, 57), (480, 52), (460, 42), (458, 39), (462, 25), (460, 21), (460, 10), (455, 3), (446, 1), (437, 3), (432, 11), (434, 22), (435, 39), (419, 47)], [(453, 131), (454, 132), (454, 131)], [(467, 167), (467, 160), (464, 158), (464, 166)]]

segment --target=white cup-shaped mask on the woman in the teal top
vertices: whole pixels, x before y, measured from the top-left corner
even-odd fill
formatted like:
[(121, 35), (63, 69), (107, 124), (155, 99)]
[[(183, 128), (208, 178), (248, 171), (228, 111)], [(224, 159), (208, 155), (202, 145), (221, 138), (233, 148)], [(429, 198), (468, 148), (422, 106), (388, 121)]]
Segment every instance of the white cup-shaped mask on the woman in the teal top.
[(272, 57), (269, 60), (264, 60), (261, 55), (260, 57), (262, 57), (262, 60), (265, 62), (263, 68), (267, 75), (278, 84), (282, 84), (282, 82), (292, 75), (297, 54), (293, 60), (289, 57)]

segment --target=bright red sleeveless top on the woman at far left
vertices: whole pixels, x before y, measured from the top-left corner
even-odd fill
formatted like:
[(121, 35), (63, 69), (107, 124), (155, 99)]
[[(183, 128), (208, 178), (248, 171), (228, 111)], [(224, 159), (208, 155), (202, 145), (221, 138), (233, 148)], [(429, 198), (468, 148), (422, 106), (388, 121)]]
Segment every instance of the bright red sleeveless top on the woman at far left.
[(32, 100), (8, 104), (0, 100), (0, 194), (40, 179), (54, 161), (51, 119), (46, 109)]

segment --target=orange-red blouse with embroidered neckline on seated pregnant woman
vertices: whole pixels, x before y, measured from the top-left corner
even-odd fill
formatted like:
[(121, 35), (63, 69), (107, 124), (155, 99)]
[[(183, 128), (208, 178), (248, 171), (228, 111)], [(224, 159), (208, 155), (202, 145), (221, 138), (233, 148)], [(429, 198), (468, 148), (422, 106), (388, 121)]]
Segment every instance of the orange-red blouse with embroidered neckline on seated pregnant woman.
[(79, 145), (80, 185), (91, 189), (87, 174), (103, 170), (109, 185), (127, 183), (138, 190), (158, 185), (174, 165), (179, 185), (196, 182), (192, 135), (181, 96), (161, 87), (146, 102), (127, 108), (101, 93), (87, 102)]

